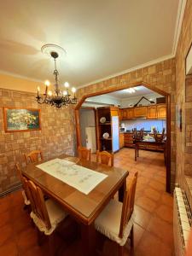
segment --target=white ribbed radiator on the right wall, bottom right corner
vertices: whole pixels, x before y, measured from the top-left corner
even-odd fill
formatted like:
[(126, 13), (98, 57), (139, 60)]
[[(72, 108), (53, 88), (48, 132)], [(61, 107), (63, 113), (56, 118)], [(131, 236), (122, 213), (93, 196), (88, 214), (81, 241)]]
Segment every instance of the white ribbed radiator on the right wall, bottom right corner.
[(191, 212), (185, 192), (176, 188), (173, 206), (173, 236), (175, 255), (183, 256), (191, 229)]

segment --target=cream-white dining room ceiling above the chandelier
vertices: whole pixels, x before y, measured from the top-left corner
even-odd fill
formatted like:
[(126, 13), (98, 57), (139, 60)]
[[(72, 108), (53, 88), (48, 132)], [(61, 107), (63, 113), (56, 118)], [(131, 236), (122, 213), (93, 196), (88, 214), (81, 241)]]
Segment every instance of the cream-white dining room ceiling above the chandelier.
[(53, 81), (41, 52), (58, 44), (60, 81), (88, 84), (171, 55), (179, 0), (9, 0), (0, 9), (0, 70)]

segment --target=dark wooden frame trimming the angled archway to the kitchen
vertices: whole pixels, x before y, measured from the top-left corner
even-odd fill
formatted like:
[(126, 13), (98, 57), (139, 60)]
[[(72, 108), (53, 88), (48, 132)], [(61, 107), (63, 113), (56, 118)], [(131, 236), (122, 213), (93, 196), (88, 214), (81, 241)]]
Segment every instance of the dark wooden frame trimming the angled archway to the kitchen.
[(131, 87), (145, 86), (149, 90), (159, 93), (166, 97), (166, 192), (171, 193), (171, 95), (164, 90), (154, 88), (150, 84), (140, 81), (137, 83), (119, 85), (118, 87), (109, 88), (107, 90), (99, 90), (87, 95), (82, 96), (77, 106), (74, 108), (75, 111), (75, 122), (76, 122), (76, 135), (77, 135), (77, 147), (81, 146), (81, 134), (80, 134), (80, 124), (79, 124), (79, 108), (81, 108), (86, 98), (92, 96), (100, 96), (102, 94), (107, 94), (109, 92), (125, 90)]

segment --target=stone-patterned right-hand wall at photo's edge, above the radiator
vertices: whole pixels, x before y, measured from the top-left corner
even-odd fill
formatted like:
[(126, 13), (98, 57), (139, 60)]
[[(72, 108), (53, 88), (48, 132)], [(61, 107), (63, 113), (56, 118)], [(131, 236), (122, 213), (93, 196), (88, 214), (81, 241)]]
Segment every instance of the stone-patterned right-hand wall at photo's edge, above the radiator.
[[(176, 129), (177, 136), (177, 183), (189, 191), (185, 175), (192, 177), (192, 79), (185, 84), (185, 57), (192, 42), (192, 0), (188, 0), (183, 16), (183, 25), (176, 55), (176, 103), (183, 112), (183, 130)], [(188, 192), (192, 207), (192, 190)]]

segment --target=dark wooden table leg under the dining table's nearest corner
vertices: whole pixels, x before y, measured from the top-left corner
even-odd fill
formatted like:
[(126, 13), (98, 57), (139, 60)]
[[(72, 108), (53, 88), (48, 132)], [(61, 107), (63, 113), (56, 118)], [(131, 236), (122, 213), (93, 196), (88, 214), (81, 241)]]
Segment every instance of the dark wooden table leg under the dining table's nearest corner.
[(96, 255), (96, 230), (94, 223), (90, 225), (81, 224), (81, 255)]

